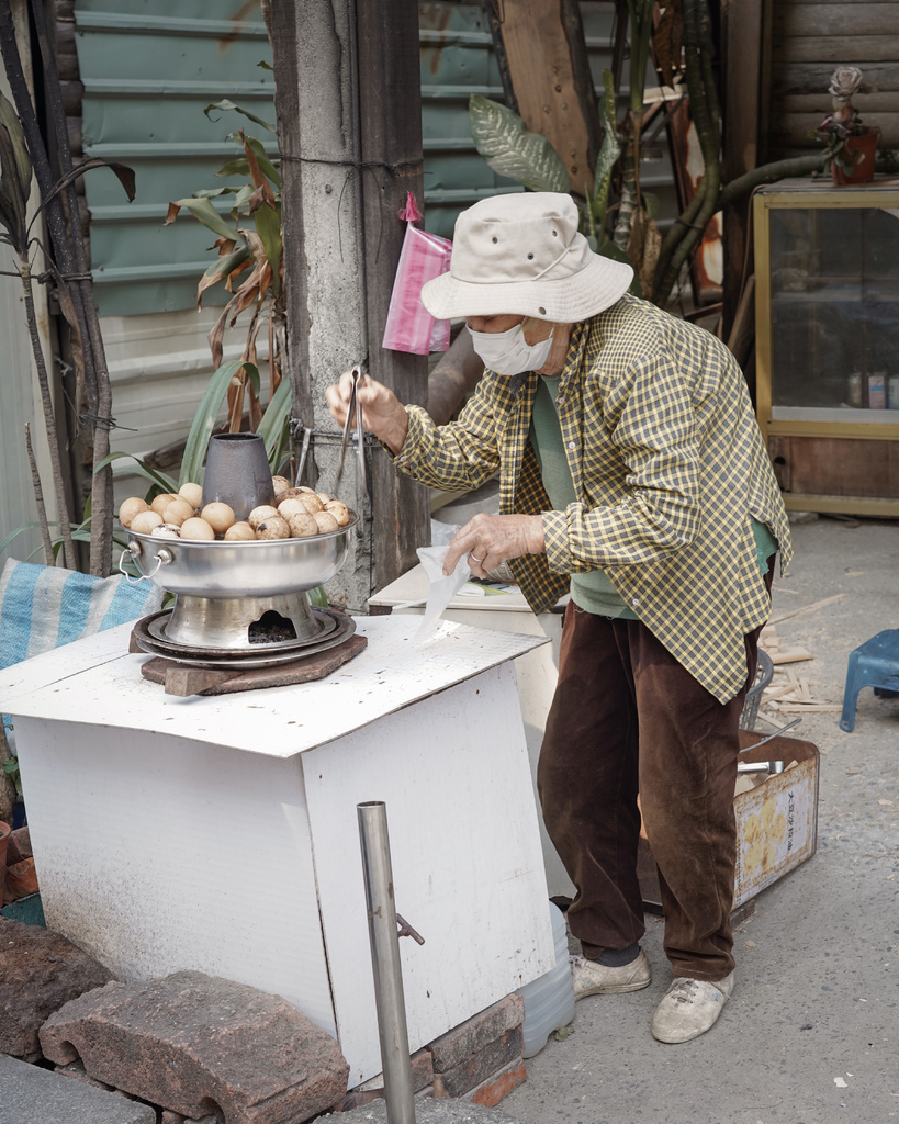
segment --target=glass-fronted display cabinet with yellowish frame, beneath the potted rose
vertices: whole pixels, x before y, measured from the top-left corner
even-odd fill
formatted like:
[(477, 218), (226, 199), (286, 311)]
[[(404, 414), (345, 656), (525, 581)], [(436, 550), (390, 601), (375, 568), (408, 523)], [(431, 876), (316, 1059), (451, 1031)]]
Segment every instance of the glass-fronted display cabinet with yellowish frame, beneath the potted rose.
[(899, 188), (783, 180), (753, 219), (756, 408), (787, 507), (899, 515)]

